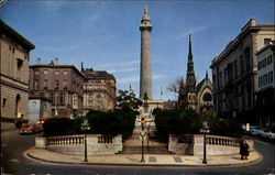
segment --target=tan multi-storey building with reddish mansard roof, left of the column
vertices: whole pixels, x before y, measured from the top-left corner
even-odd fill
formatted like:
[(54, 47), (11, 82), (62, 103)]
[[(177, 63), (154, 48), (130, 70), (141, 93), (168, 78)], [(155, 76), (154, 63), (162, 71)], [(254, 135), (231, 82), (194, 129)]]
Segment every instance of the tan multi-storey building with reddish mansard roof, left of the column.
[(117, 80), (106, 70), (84, 69), (84, 114), (90, 110), (108, 111), (116, 107)]

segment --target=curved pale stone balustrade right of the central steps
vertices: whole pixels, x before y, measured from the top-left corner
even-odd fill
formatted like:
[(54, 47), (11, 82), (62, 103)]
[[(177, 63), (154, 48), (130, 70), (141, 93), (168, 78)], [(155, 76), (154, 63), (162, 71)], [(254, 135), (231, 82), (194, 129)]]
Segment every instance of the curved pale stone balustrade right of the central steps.
[[(250, 150), (254, 150), (253, 141), (248, 140)], [(207, 154), (208, 155), (224, 155), (237, 154), (240, 152), (240, 139), (207, 135)], [(169, 135), (168, 151), (176, 154), (202, 155), (204, 154), (204, 135), (187, 134), (187, 135)]]

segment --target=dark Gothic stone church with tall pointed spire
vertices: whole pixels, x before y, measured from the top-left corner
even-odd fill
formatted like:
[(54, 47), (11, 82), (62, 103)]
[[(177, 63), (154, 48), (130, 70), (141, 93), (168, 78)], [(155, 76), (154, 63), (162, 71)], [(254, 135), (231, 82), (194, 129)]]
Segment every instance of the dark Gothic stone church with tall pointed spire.
[(179, 85), (178, 107), (200, 113), (213, 111), (212, 83), (208, 78), (208, 73), (206, 72), (206, 77), (199, 84), (195, 77), (191, 35), (189, 35), (186, 81), (182, 79)]

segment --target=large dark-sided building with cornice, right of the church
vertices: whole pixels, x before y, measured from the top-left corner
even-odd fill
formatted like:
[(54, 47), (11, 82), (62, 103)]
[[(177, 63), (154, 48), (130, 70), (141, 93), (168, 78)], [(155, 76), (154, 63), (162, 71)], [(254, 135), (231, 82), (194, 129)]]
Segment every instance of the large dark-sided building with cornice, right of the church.
[(215, 110), (220, 117), (237, 117), (242, 122), (257, 122), (255, 92), (257, 62), (255, 53), (274, 40), (274, 24), (256, 24), (250, 19), (238, 36), (212, 59)]

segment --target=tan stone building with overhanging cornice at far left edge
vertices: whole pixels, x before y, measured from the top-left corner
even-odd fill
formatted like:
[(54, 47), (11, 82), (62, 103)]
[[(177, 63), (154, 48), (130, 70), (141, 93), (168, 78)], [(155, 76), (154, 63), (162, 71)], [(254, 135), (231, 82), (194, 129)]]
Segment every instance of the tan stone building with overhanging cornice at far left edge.
[(34, 45), (0, 20), (1, 130), (28, 117), (29, 61)]

